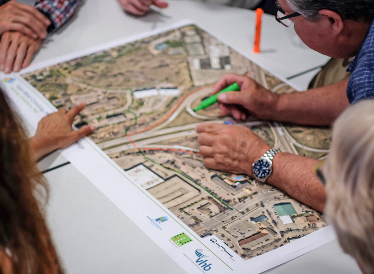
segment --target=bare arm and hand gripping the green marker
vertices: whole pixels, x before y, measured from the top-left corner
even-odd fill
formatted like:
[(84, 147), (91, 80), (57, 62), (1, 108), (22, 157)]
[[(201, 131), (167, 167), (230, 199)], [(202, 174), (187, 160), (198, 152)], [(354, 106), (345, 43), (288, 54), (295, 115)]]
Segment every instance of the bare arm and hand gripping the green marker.
[(221, 114), (227, 115), (231, 112), (236, 119), (246, 117), (244, 108), (261, 119), (309, 125), (331, 125), (349, 106), (346, 96), (348, 80), (304, 92), (275, 94), (252, 78), (228, 74), (217, 82), (212, 93), (218, 92), (233, 82), (239, 84), (241, 91), (220, 94), (218, 101)]

